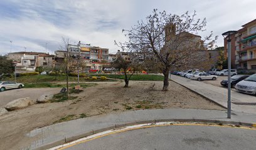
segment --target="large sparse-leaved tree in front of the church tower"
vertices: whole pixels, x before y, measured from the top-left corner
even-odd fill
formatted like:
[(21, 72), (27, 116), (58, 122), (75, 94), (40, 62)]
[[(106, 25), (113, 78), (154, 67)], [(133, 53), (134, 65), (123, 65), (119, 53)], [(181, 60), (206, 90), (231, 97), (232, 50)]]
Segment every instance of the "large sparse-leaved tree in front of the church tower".
[(154, 9), (152, 14), (146, 17), (146, 21), (138, 21), (130, 30), (123, 30), (129, 41), (119, 44), (135, 53), (154, 54), (156, 65), (164, 74), (163, 91), (166, 91), (171, 69), (191, 67), (191, 62), (195, 65), (202, 63), (200, 51), (211, 49), (215, 44), (216, 37), (212, 39), (212, 32), (204, 39), (196, 35), (205, 31), (206, 19), (195, 17), (196, 12), (191, 16), (188, 12), (178, 16)]

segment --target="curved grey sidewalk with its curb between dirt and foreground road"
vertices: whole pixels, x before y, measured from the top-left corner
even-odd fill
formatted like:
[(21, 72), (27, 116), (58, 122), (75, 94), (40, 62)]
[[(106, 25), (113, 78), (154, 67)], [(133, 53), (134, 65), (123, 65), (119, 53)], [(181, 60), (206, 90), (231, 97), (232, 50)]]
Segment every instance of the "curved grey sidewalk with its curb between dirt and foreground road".
[[(255, 126), (255, 114), (232, 113), (227, 119), (226, 111), (203, 109), (146, 109), (125, 111), (67, 121), (35, 129), (23, 141), (23, 149), (47, 149), (85, 136), (124, 126), (156, 123), (161, 121), (228, 123)], [(29, 143), (28, 141), (33, 141)]]

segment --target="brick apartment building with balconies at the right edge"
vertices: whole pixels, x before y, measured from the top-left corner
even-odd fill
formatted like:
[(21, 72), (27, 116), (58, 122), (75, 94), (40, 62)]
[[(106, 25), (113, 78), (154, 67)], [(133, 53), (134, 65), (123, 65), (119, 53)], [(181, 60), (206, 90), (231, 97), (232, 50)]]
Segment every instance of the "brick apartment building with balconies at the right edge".
[[(232, 68), (256, 69), (256, 19), (243, 24), (231, 39)], [(224, 39), (227, 56), (227, 37)]]

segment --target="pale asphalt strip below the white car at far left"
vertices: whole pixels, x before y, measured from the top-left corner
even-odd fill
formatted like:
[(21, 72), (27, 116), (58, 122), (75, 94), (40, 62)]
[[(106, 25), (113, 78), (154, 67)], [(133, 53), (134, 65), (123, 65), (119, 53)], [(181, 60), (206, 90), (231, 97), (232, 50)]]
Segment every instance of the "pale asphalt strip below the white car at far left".
[(18, 98), (31, 98), (36, 101), (41, 95), (45, 93), (58, 93), (60, 88), (23, 88), (23, 89), (9, 89), (0, 93), (0, 108), (3, 108), (7, 103)]

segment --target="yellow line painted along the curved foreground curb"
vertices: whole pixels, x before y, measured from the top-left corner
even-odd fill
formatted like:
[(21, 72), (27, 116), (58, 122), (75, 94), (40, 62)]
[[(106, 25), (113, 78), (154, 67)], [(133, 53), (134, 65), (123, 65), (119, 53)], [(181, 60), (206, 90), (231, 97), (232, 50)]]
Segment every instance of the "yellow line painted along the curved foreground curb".
[[(182, 124), (182, 123), (180, 123), (180, 124), (158, 124), (158, 125), (141, 126), (141, 127), (137, 127), (137, 128), (131, 128), (131, 129), (123, 129), (123, 130), (120, 130), (120, 131), (113, 131), (112, 133), (106, 133), (106, 134), (103, 134), (103, 135), (100, 135), (100, 136), (95, 136), (94, 138), (91, 138), (91, 139), (85, 139), (85, 140), (80, 141), (78, 143), (73, 143), (73, 144), (70, 144), (68, 146), (64, 146), (63, 148), (59, 148), (58, 150), (67, 149), (67, 148), (70, 148), (70, 147), (75, 146), (77, 144), (81, 144), (81, 143), (86, 143), (88, 141), (92, 141), (93, 139), (98, 139), (98, 138), (102, 138), (104, 136), (109, 136), (110, 134), (122, 133), (122, 132), (125, 132), (125, 131), (131, 131), (131, 130), (134, 130), (134, 129), (152, 128), (152, 127), (159, 127), (159, 126), (217, 126), (217, 127), (224, 127), (224, 128), (237, 128), (237, 129), (256, 130), (255, 128), (236, 127), (236, 126), (228, 126), (228, 125), (222, 125), (221, 126), (221, 125), (218, 125), (218, 124), (193, 124), (193, 123), (186, 123), (186, 124)], [(253, 124), (253, 127), (256, 127), (256, 124)]]

